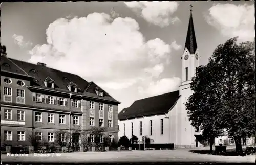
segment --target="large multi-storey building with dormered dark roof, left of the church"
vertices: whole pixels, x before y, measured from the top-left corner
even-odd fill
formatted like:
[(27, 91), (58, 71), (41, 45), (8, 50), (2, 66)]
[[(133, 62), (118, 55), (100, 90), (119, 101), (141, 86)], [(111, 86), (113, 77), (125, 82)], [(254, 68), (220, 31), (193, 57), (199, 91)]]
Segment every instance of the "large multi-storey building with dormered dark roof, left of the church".
[(1, 54), (2, 145), (31, 146), (32, 134), (54, 142), (56, 130), (78, 132), (73, 142), (81, 144), (79, 132), (92, 127), (104, 127), (104, 136), (117, 140), (118, 104), (94, 82)]

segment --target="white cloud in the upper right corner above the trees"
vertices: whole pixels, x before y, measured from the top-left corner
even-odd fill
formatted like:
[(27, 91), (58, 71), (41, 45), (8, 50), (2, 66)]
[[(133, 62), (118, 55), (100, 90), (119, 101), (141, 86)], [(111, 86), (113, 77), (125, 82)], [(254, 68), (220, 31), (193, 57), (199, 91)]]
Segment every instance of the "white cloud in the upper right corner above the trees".
[(253, 41), (254, 11), (254, 5), (215, 4), (209, 9), (206, 21), (225, 36)]

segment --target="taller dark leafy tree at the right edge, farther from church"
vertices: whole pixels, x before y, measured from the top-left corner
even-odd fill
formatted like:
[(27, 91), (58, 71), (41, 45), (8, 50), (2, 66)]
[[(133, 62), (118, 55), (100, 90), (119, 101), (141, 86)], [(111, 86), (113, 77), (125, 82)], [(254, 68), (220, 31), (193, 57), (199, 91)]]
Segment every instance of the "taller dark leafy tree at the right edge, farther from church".
[(212, 58), (221, 70), (222, 124), (242, 152), (242, 139), (255, 134), (255, 43), (237, 37), (218, 46)]

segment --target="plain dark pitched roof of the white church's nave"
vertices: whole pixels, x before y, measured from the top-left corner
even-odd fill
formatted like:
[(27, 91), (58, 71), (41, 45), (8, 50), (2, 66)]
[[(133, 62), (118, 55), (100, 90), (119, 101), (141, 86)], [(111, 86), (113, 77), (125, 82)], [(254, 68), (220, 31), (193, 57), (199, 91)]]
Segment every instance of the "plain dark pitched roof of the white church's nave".
[(124, 108), (118, 114), (118, 119), (123, 120), (167, 113), (179, 98), (179, 90), (177, 90), (150, 98), (136, 100), (129, 108)]

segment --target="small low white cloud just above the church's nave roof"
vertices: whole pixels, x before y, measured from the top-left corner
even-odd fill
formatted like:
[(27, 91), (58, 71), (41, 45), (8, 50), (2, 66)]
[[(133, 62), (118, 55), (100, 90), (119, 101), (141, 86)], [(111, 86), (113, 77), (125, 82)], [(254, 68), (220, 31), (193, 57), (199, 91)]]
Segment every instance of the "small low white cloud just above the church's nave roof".
[(140, 93), (145, 93), (150, 96), (160, 95), (171, 91), (178, 90), (181, 80), (178, 77), (163, 78), (156, 82), (150, 82), (147, 87), (138, 87)]

